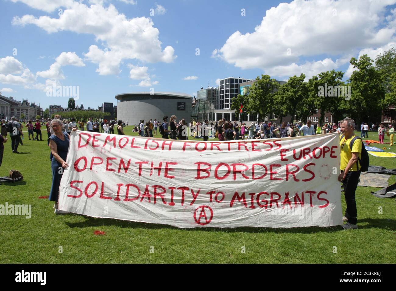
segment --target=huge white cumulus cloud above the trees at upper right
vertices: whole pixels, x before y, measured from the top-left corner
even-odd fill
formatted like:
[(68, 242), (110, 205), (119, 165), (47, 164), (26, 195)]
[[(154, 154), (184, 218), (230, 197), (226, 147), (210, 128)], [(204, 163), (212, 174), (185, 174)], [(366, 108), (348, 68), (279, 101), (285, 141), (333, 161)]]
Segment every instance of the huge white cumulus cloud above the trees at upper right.
[[(337, 68), (363, 48), (394, 39), (396, 0), (295, 0), (265, 12), (253, 32), (236, 31), (212, 57), (242, 69), (291, 76)], [(323, 55), (328, 55), (323, 59)], [(341, 55), (333, 61), (331, 55)], [(320, 57), (315, 60), (315, 56)], [(301, 61), (301, 59), (309, 61)], [(348, 60), (349, 61), (349, 60)], [(300, 64), (301, 63), (301, 64)]]

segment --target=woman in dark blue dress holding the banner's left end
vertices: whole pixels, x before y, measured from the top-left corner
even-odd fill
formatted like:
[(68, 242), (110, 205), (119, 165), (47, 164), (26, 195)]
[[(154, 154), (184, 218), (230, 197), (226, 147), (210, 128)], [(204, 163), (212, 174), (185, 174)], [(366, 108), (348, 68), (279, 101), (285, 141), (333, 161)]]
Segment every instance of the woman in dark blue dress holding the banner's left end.
[(68, 167), (66, 157), (69, 150), (70, 135), (66, 131), (62, 131), (62, 121), (59, 119), (51, 120), (51, 129), (54, 133), (48, 138), (48, 146), (51, 148), (52, 186), (48, 199), (55, 201), (54, 213), (65, 214), (66, 211), (58, 209), (58, 198), (63, 169)]

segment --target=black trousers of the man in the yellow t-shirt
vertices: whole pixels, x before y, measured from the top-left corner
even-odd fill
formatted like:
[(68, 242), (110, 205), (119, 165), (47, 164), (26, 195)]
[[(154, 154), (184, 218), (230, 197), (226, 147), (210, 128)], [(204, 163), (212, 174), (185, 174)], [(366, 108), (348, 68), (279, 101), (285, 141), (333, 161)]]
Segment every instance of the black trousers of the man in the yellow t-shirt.
[[(356, 165), (355, 165), (356, 166)], [(342, 173), (344, 171), (341, 171)], [(343, 180), (343, 188), (346, 202), (345, 217), (348, 219), (348, 223), (357, 224), (358, 216), (356, 210), (355, 191), (358, 186), (360, 171), (349, 171)]]

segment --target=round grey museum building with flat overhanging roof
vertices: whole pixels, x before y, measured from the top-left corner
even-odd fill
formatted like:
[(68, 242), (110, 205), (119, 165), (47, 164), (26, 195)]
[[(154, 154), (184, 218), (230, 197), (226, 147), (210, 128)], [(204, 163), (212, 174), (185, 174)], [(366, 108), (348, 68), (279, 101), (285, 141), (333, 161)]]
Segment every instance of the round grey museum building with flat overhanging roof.
[[(151, 93), (151, 94), (150, 94)], [(117, 120), (128, 124), (139, 124), (140, 120), (156, 119), (162, 122), (164, 116), (177, 116), (190, 122), (192, 97), (177, 92), (134, 92), (118, 94)], [(168, 119), (169, 122), (169, 119)]]

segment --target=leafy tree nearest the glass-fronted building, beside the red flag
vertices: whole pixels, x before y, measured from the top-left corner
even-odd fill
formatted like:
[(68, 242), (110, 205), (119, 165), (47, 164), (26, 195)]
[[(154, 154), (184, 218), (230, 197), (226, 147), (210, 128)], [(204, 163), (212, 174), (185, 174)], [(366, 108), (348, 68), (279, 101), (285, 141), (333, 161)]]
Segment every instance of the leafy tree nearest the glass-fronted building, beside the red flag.
[(249, 114), (258, 113), (259, 120), (273, 113), (272, 104), (274, 91), (279, 88), (279, 83), (268, 75), (257, 76), (256, 81), (250, 86), (249, 94), (245, 97), (244, 108)]

